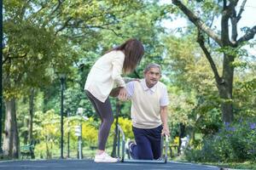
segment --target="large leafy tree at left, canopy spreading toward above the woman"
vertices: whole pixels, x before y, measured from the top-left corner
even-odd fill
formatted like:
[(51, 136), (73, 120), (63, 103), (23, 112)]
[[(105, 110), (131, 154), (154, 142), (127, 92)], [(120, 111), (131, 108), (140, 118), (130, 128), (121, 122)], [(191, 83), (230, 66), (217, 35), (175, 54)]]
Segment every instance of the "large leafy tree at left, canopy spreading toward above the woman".
[(72, 75), (73, 65), (84, 57), (79, 53), (100, 51), (102, 47), (97, 42), (102, 38), (102, 30), (115, 33), (114, 26), (120, 20), (145, 7), (141, 1), (127, 0), (4, 2), (5, 155), (17, 157), (19, 152), (18, 134), (13, 133), (17, 131), (16, 99), (28, 94), (31, 88), (49, 87), (58, 71)]

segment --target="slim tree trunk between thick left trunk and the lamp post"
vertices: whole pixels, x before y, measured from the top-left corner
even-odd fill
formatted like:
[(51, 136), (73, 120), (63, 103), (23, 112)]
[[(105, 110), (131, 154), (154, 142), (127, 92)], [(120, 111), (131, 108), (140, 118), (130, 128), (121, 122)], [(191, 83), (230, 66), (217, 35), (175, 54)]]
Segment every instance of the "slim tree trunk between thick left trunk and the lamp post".
[(33, 134), (33, 112), (34, 112), (34, 88), (30, 91), (29, 97), (29, 120), (28, 120), (28, 142), (32, 141), (32, 134)]

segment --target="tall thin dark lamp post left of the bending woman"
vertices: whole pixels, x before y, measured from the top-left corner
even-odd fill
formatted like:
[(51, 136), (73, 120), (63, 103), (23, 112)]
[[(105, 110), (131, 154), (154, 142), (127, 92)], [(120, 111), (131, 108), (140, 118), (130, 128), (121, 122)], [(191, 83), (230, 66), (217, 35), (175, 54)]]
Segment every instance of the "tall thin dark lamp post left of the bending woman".
[(64, 82), (66, 75), (60, 74), (61, 80), (61, 159), (63, 159), (63, 111), (64, 111)]

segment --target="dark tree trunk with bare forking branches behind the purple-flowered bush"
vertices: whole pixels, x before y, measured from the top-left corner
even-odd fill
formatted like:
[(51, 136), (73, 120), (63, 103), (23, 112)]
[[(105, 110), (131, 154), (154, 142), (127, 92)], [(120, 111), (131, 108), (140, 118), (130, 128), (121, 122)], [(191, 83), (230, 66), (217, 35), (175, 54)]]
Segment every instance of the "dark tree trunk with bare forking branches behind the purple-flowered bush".
[[(197, 1), (201, 2), (201, 1)], [(215, 2), (215, 1), (214, 1)], [(212, 71), (214, 73), (215, 82), (218, 87), (218, 94), (221, 99), (221, 111), (222, 111), (222, 120), (223, 122), (232, 122), (234, 119), (233, 113), (233, 77), (234, 77), (234, 61), (239, 57), (239, 50), (249, 40), (253, 39), (256, 33), (256, 26), (252, 28), (247, 28), (246, 33), (238, 37), (237, 24), (241, 19), (242, 11), (246, 0), (241, 4), (240, 10), (236, 11), (236, 6), (238, 0), (222, 1), (222, 5), (214, 3), (212, 1), (202, 2), (202, 6), (216, 7), (218, 5), (218, 11), (221, 13), (221, 28), (219, 33), (214, 31), (210, 25), (207, 25), (207, 20), (203, 21), (199, 16), (197, 16), (191, 9), (189, 9), (184, 3), (179, 0), (172, 0), (178, 8), (180, 8), (189, 20), (196, 26), (198, 29), (198, 39), (197, 42), (200, 44), (200, 47), (204, 54), (206, 55), (209, 64), (211, 65)], [(220, 2), (220, 1), (218, 1)], [(209, 9), (209, 8), (208, 8)], [(231, 23), (231, 32), (230, 32), (230, 23)], [(204, 33), (204, 34), (203, 34)], [(231, 33), (231, 35), (230, 35)], [(222, 75), (219, 74), (218, 69), (212, 59), (212, 54), (205, 44), (204, 36), (212, 38), (220, 51), (223, 53), (223, 71)]]

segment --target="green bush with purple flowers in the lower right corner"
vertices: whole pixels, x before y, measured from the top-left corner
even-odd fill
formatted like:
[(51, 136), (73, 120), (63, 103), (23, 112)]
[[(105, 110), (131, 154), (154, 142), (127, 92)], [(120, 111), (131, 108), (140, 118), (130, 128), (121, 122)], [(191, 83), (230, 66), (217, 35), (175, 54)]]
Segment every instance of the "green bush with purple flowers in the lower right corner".
[(187, 150), (189, 161), (256, 161), (256, 120), (226, 123), (203, 140), (201, 150)]

